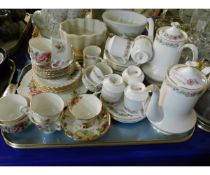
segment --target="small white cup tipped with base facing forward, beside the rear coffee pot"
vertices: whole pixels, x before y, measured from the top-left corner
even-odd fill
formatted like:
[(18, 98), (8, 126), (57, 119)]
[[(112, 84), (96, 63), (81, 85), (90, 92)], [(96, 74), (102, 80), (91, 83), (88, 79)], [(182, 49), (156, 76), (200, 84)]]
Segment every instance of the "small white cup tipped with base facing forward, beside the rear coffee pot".
[(152, 42), (148, 36), (140, 35), (134, 40), (131, 58), (137, 64), (144, 64), (152, 59)]

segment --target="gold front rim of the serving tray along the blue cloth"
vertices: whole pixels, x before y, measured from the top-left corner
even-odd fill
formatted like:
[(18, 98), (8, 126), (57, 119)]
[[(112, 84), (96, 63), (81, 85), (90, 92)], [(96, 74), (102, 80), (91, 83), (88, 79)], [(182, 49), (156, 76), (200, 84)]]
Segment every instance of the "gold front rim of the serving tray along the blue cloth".
[(76, 148), (76, 147), (104, 147), (104, 146), (129, 146), (129, 145), (146, 145), (146, 144), (166, 144), (166, 143), (181, 143), (189, 140), (195, 131), (195, 127), (193, 127), (185, 136), (179, 139), (157, 139), (157, 140), (148, 140), (148, 141), (108, 141), (108, 142), (99, 142), (99, 143), (91, 143), (91, 142), (81, 142), (79, 144), (18, 144), (10, 141), (6, 134), (1, 131), (1, 135), (7, 145), (12, 148), (17, 149), (37, 149), (37, 148)]

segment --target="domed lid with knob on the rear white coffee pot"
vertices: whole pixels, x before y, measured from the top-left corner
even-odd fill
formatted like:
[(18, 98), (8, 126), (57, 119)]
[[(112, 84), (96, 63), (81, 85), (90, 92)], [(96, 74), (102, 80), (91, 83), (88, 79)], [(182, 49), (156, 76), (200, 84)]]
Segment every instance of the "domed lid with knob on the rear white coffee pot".
[(169, 40), (169, 41), (183, 41), (187, 39), (187, 34), (179, 29), (178, 27), (180, 24), (178, 22), (172, 22), (171, 26), (163, 27), (159, 34), (162, 38)]

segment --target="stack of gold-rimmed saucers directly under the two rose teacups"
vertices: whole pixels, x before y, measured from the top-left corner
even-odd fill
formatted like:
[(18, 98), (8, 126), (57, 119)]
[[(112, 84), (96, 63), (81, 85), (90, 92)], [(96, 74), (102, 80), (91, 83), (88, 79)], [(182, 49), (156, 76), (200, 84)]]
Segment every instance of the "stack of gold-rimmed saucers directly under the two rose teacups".
[(72, 60), (59, 67), (41, 67), (35, 63), (32, 65), (35, 75), (43, 79), (57, 79), (72, 74), (76, 69), (76, 64)]

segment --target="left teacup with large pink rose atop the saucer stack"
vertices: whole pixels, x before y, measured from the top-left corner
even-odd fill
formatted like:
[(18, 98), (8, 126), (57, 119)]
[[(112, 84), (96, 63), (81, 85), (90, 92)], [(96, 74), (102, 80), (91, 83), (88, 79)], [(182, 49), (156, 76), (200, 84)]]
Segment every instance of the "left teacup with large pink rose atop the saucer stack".
[(45, 66), (51, 62), (51, 40), (46, 38), (31, 38), (29, 40), (29, 54), (31, 61)]

